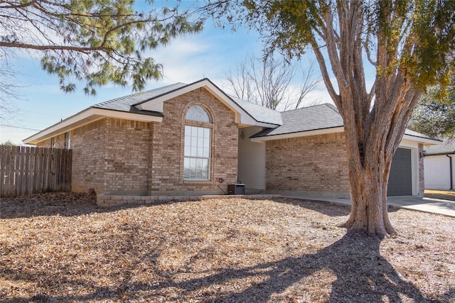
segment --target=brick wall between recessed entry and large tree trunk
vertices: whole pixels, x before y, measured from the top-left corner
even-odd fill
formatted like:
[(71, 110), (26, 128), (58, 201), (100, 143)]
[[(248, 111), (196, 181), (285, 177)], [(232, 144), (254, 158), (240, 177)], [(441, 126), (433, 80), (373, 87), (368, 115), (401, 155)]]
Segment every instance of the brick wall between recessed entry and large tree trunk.
[(349, 196), (343, 133), (267, 141), (266, 167), (267, 189)]

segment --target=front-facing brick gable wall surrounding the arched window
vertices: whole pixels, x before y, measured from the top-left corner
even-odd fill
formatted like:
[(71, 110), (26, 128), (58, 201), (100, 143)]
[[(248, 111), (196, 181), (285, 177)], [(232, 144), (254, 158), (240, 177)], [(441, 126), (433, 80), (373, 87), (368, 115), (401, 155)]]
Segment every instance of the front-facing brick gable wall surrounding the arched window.
[[(185, 121), (191, 106), (203, 107), (212, 123)], [(185, 125), (211, 129), (210, 181), (183, 180)], [(238, 128), (235, 114), (205, 89), (196, 89), (164, 102), (164, 118), (154, 124), (150, 163), (151, 192), (210, 192), (227, 191), (228, 184), (237, 182)], [(222, 182), (219, 182), (222, 180)]]

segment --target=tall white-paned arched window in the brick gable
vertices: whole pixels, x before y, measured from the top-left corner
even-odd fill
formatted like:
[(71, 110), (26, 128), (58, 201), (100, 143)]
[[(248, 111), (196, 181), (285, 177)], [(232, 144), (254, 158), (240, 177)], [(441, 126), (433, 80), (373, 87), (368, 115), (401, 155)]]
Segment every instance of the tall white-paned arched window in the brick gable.
[[(200, 106), (191, 106), (186, 112), (186, 121), (210, 123), (210, 116)], [(210, 180), (210, 128), (185, 126), (185, 150), (183, 180)]]

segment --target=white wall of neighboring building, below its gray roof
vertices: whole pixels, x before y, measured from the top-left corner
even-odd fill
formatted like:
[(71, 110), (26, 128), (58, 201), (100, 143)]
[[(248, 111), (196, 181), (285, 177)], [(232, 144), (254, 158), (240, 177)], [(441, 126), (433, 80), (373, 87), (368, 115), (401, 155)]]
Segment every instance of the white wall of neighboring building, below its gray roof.
[[(455, 179), (455, 155), (452, 157), (452, 173)], [(424, 175), (426, 189), (449, 189), (449, 158), (446, 155), (434, 155), (424, 158)], [(455, 187), (454, 187), (455, 188)]]

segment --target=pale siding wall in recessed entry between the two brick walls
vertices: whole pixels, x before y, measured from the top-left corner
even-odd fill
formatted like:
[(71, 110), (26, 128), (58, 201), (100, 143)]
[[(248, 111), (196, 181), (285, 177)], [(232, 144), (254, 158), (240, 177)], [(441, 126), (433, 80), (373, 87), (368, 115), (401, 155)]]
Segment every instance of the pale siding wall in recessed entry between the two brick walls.
[[(239, 129), (238, 180), (247, 189), (265, 189), (265, 143), (250, 141), (261, 130), (258, 126)], [(240, 138), (242, 131), (244, 139)]]

